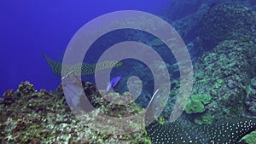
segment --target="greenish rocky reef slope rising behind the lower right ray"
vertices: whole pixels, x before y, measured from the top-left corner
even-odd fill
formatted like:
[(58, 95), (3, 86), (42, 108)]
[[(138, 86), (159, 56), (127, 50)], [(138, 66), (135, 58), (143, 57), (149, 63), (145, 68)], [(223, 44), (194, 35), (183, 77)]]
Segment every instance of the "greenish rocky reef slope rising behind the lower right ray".
[[(188, 48), (192, 49), (189, 53), (192, 51), (193, 54), (195, 49), (195, 55), (200, 57), (195, 62), (193, 95), (184, 111), (185, 118), (195, 124), (214, 124), (230, 118), (255, 118), (256, 13), (238, 3), (207, 6), (209, 9), (202, 17), (200, 11), (203, 10), (199, 9), (198, 14), (195, 12), (174, 22), (179, 33), (184, 33), (183, 37), (195, 28), (200, 30), (195, 32), (195, 40), (186, 37), (192, 41), (188, 44)], [(199, 23), (198, 19), (192, 19), (195, 15), (201, 19)], [(183, 25), (178, 25), (182, 20)], [(185, 23), (186, 20), (189, 22)], [(189, 27), (190, 21), (192, 27)], [(203, 103), (195, 95), (207, 95), (206, 98), (209, 96), (212, 99)], [(252, 137), (248, 136), (248, 143), (255, 141)]]

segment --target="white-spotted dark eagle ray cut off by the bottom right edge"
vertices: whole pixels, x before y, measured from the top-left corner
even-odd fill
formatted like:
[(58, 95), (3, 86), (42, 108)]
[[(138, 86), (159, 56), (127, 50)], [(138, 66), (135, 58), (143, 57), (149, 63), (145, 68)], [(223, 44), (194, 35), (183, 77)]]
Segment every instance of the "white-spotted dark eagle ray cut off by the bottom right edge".
[(154, 121), (146, 130), (155, 144), (236, 144), (244, 135), (256, 130), (256, 119), (232, 119), (202, 125), (183, 121), (160, 124)]

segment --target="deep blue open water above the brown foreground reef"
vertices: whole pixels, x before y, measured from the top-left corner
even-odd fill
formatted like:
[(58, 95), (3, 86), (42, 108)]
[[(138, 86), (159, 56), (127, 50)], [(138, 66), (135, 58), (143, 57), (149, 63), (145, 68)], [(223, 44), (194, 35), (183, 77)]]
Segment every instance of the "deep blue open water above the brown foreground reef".
[(86, 22), (117, 10), (161, 14), (169, 3), (170, 0), (1, 1), (0, 96), (26, 80), (35, 89), (53, 90), (61, 84), (42, 52), (61, 61), (67, 43)]

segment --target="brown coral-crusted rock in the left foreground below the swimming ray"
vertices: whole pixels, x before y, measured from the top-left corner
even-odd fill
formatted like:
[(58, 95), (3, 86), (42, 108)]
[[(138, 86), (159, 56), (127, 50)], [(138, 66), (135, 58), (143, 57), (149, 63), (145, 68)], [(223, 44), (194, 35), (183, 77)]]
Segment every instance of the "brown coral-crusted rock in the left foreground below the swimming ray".
[[(90, 101), (96, 107), (104, 105), (101, 110), (109, 115), (125, 117), (141, 111), (134, 104), (124, 107), (109, 103), (96, 95), (99, 92), (93, 84), (84, 84), (84, 92), (91, 94)], [(150, 143), (145, 130), (109, 135), (90, 129), (67, 106), (61, 85), (47, 92), (23, 82), (16, 91), (4, 93), (0, 110), (0, 143)]]

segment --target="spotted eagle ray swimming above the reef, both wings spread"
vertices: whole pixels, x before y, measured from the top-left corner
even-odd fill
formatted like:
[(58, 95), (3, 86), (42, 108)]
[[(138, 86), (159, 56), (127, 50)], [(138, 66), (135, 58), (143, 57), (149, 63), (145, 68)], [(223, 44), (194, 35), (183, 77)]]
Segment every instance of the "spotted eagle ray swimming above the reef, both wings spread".
[[(55, 74), (61, 75), (62, 63), (50, 59), (47, 55), (43, 54), (45, 60), (47, 60), (52, 72)], [(72, 72), (73, 75), (89, 75), (93, 74), (97, 71), (101, 71), (106, 68), (113, 68), (123, 66), (123, 62), (114, 61), (114, 60), (106, 60), (98, 63), (88, 64), (88, 63), (78, 63), (74, 65), (64, 65), (62, 68), (63, 75), (66, 76), (68, 73)], [(79, 70), (81, 73), (79, 73)]]

